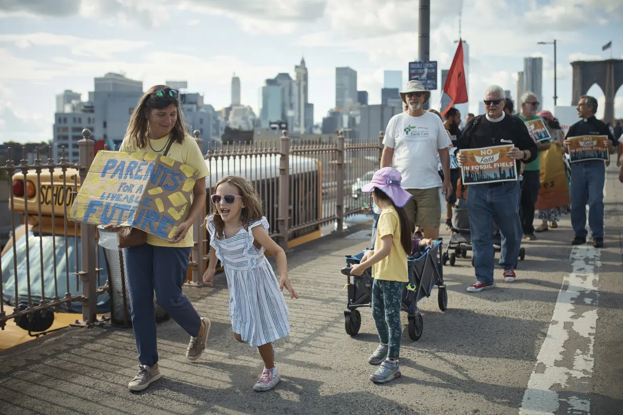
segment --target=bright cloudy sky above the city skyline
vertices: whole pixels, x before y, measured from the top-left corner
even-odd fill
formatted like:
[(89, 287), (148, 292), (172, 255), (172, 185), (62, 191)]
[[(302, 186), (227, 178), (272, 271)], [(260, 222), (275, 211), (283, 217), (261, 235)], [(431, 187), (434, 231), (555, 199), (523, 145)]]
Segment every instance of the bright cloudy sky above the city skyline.
[[(470, 111), (490, 84), (511, 90), (524, 57), (543, 57), (543, 103), (553, 110), (553, 47), (558, 105), (571, 105), (574, 60), (623, 58), (623, 0), (430, 0), (430, 60), (450, 67), (459, 39), (469, 44)], [(107, 72), (143, 81), (188, 81), (217, 110), (231, 102), (258, 113), (264, 80), (294, 76), (305, 58), (309, 101), (321, 121), (335, 106), (335, 68), (358, 72), (358, 90), (380, 103), (384, 70), (418, 56), (417, 0), (0, 0), (0, 142), (52, 139), (55, 95), (87, 99)], [(612, 50), (602, 45), (612, 40)], [(439, 88), (442, 86), (439, 85)], [(598, 86), (589, 90), (599, 103)], [(439, 106), (439, 90), (431, 97)], [(623, 116), (623, 88), (615, 113)], [(600, 106), (598, 116), (603, 111)]]

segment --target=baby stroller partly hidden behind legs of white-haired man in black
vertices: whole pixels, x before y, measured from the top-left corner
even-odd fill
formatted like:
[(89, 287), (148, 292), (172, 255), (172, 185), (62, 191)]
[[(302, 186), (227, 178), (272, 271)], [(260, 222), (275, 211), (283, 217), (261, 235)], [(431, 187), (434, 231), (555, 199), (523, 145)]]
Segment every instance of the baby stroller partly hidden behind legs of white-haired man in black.
[[(469, 227), (469, 215), (467, 213), (467, 185), (463, 185), (459, 179), (459, 185), (457, 185), (457, 203), (452, 207), (452, 230), (450, 233), (450, 241), (445, 253), (442, 256), (443, 264), (450, 263), (450, 266), (454, 266), (457, 258), (467, 258), (467, 251), (472, 250), (472, 236), (470, 235)], [(502, 249), (502, 235), (500, 234), (500, 228), (493, 221), (493, 251), (500, 252)], [(452, 252), (450, 252), (452, 251)], [(526, 258), (526, 249), (521, 247), (519, 249), (519, 259), (523, 261)], [(473, 266), (473, 256), (472, 256)], [(517, 263), (515, 263), (517, 268)]]

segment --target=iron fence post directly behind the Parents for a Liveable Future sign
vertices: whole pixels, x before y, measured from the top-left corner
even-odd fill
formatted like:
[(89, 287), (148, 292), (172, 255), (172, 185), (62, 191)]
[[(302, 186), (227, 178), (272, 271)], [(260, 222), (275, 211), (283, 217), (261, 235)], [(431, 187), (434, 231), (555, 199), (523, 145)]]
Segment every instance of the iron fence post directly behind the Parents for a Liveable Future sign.
[[(88, 169), (93, 162), (93, 147), (95, 141), (91, 138), (91, 131), (87, 128), (82, 130), (82, 140), (78, 141), (80, 151), (80, 185), (87, 178)], [(67, 220), (67, 219), (65, 219)], [(97, 321), (97, 273), (95, 266), (97, 261), (97, 245), (95, 243), (96, 226), (90, 223), (80, 223), (80, 250), (82, 256), (82, 270), (80, 280), (82, 281), (82, 323), (79, 325), (90, 326)], [(77, 237), (78, 235), (76, 235)]]

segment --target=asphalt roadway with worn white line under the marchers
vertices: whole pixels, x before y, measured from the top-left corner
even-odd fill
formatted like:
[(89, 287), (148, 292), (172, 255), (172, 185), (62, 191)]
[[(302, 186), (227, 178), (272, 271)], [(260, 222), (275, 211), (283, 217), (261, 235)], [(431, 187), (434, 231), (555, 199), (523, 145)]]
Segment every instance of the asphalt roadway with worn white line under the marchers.
[[(571, 248), (569, 217), (525, 242), (518, 280), (469, 294), (469, 257), (444, 268), (449, 309), (423, 299), (424, 333), (402, 336), (402, 378), (374, 385), (366, 359), (378, 338), (363, 309), (344, 330), (345, 254), (368, 245), (368, 224), (293, 249), (287, 299), (292, 334), (276, 343), (282, 382), (255, 393), (257, 350), (232, 337), (224, 275), (188, 288), (212, 319), (208, 350), (184, 358), (188, 335), (159, 325), (163, 378), (141, 393), (131, 330), (65, 329), (0, 353), (2, 414), (621, 414), (623, 413), (623, 184), (606, 182), (606, 247)], [(535, 220), (536, 223), (536, 220)], [(447, 236), (447, 235), (446, 235)], [(406, 327), (406, 315), (402, 314)], [(1, 332), (0, 332), (0, 335)]]

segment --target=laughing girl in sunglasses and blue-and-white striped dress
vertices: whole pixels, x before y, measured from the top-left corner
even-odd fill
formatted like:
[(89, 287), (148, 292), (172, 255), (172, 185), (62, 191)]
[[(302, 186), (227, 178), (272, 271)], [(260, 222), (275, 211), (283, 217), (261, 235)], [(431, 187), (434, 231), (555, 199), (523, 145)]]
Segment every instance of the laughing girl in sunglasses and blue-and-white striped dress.
[[(288, 279), (285, 252), (268, 234), (269, 222), (262, 216), (262, 200), (255, 187), (244, 177), (224, 177), (217, 182), (211, 200), (211, 215), (206, 218), (211, 248), (203, 281), (212, 285), (218, 258), (227, 276), (234, 338), (257, 347), (264, 372), (254, 390), (267, 391), (280, 380), (272, 342), (290, 333), (281, 291), (285, 287), (290, 298), (298, 298), (298, 293)], [(264, 256), (266, 249), (277, 260), (278, 284)]]

